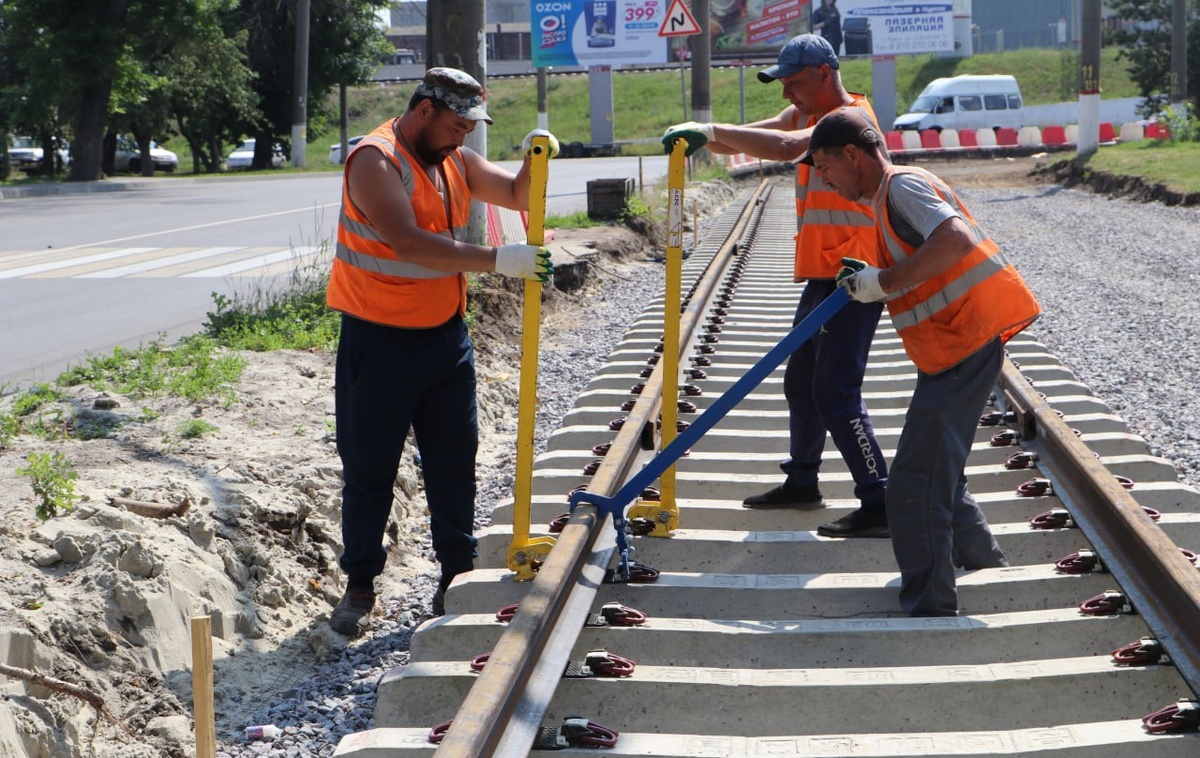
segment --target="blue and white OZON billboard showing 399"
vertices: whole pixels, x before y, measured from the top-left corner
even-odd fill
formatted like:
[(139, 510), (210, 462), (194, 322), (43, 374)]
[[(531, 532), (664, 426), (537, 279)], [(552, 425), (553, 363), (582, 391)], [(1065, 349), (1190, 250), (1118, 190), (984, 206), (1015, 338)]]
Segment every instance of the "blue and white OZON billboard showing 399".
[(618, 66), (662, 64), (659, 26), (670, 0), (534, 0), (533, 65)]

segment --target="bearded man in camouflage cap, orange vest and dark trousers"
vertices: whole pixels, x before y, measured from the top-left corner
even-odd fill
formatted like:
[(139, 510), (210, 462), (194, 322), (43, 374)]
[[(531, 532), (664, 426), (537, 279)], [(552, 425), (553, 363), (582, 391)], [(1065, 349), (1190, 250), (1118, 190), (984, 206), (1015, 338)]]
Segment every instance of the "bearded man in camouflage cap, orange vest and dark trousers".
[[(433, 610), (444, 613), (450, 580), (474, 567), (476, 540), (475, 363), (463, 315), (466, 271), (539, 279), (551, 275), (545, 247), (473, 245), (472, 199), (523, 209), (529, 154), (516, 175), (463, 146), (492, 122), (484, 88), (455, 68), (430, 68), (400, 116), (347, 156), (329, 307), (342, 312), (335, 374), (337, 452), (342, 458), (340, 559), (347, 589), (330, 626), (356, 636), (376, 602), (386, 559), (384, 530), (404, 438), (421, 455), (433, 551), (442, 578)], [(558, 152), (551, 136), (551, 156)]]

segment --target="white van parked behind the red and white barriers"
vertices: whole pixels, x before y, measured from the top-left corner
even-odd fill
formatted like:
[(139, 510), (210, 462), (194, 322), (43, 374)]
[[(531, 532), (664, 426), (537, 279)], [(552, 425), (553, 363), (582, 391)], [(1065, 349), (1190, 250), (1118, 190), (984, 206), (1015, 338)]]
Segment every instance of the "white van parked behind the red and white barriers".
[(1016, 78), (1007, 74), (934, 79), (895, 130), (978, 130), (1025, 125), (1025, 107)]

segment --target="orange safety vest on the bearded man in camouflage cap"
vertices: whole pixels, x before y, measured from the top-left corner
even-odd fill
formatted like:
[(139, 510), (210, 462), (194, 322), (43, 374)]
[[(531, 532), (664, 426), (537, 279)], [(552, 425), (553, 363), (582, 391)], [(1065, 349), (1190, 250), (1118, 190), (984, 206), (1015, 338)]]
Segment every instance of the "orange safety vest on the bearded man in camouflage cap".
[[(448, 219), (445, 200), (416, 160), (401, 148), (392, 121), (380, 125), (355, 145), (346, 158), (346, 172), (365, 145), (378, 148), (400, 172), (416, 223), (422, 229), (452, 239), (466, 235), (470, 190), (461, 151), (455, 150), (442, 164), (450, 195)], [(445, 324), (456, 313), (467, 313), (467, 277), (401, 260), (350, 199), (349, 187), (343, 181), (337, 254), (325, 301), (330, 308), (366, 321), (427, 329)]]

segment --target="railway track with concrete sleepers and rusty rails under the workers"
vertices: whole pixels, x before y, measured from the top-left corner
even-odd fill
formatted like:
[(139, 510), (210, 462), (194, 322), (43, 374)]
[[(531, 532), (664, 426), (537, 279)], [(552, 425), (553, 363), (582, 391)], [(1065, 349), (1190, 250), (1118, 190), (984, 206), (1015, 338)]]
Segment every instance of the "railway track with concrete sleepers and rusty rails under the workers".
[[(685, 378), (684, 423), (791, 326), (800, 285), (788, 284), (794, 210), (780, 186), (748, 192), (684, 264), (679, 350), (684, 372), (700, 369)], [(659, 363), (662, 309), (647, 306), (538, 457), (530, 506), (546, 534), (581, 485), (612, 497), (652, 463), (643, 443), (662, 378), (643, 374)], [(536, 578), (516, 582), (512, 507), (498, 507), (480, 567), (448, 592), (450, 613), (418, 630), (412, 662), (380, 682), (376, 728), (335, 754), (1200, 754), (1200, 574), (1188, 554), (1200, 548), (1200, 493), (1032, 335), (1008, 356), (967, 477), (1012, 565), (960, 573), (959, 616), (900, 612), (888, 540), (816, 534), (857, 506), (832, 445), (824, 509), (742, 507), (779, 477), (780, 368), (689, 441), (673, 534), (629, 537), (654, 582), (605, 582), (619, 563), (614, 531), (588, 503), (560, 522)], [(884, 317), (864, 397), (889, 458), (914, 381)], [(616, 675), (588, 675), (589, 663)]]

